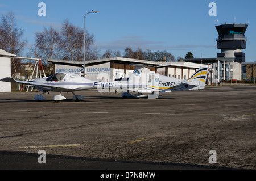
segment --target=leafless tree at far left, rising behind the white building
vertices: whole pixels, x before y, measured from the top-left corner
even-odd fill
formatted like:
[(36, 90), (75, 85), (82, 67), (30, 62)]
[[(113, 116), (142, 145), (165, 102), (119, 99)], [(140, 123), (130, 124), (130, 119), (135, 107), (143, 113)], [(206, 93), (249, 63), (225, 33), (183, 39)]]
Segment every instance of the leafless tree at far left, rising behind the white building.
[[(19, 56), (27, 41), (21, 40), (24, 30), (17, 27), (15, 16), (12, 12), (2, 15), (0, 29), (0, 48)], [(14, 70), (16, 75), (19, 64), (20, 60), (11, 58), (12, 70)]]

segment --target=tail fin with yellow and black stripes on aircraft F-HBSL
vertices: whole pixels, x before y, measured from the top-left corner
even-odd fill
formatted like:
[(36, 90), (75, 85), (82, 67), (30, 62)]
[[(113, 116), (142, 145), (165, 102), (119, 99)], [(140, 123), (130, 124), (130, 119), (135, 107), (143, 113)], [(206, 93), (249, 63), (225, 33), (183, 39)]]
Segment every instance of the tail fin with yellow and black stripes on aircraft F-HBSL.
[(187, 79), (184, 83), (188, 85), (198, 86), (198, 89), (204, 89), (205, 83), (207, 83), (208, 68), (200, 67), (192, 75), (191, 78)]

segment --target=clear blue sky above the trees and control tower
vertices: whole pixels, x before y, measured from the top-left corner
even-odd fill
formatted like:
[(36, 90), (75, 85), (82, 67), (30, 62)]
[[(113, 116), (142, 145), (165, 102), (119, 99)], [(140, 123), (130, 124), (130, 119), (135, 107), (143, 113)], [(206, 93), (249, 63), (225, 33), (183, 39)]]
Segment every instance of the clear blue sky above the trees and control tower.
[[(46, 16), (39, 16), (39, 2), (46, 3)], [(210, 2), (217, 5), (217, 16), (209, 16)], [(142, 50), (167, 50), (175, 58), (185, 57), (190, 51), (195, 58), (217, 57), (218, 37), (215, 24), (248, 23), (246, 62), (256, 61), (256, 1), (255, 0), (0, 0), (0, 13), (12, 11), (18, 26), (24, 29), (29, 45), (35, 42), (35, 32), (44, 27), (61, 27), (64, 19), (84, 27), (94, 34), (94, 46), (101, 50), (124, 50), (138, 47)]]

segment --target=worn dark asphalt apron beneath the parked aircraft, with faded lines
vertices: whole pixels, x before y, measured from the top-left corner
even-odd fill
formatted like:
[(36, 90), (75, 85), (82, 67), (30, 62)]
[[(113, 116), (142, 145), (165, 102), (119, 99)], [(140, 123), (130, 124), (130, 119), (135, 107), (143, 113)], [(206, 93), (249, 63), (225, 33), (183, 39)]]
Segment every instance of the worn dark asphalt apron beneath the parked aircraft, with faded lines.
[(60, 103), (39, 93), (0, 93), (0, 169), (256, 169), (255, 86), (158, 99), (87, 90), (80, 102), (63, 92)]

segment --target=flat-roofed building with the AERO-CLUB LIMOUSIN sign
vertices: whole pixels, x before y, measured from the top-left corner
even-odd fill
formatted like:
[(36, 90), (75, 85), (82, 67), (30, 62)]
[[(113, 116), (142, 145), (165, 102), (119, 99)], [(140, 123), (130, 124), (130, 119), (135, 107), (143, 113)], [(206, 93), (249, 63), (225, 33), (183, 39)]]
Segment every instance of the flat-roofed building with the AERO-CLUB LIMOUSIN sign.
[[(55, 65), (55, 73), (69, 72), (75, 74), (83, 74), (84, 61), (67, 61), (67, 60), (47, 60)], [(86, 61), (86, 78), (93, 81), (109, 81), (115, 78), (130, 77), (133, 73), (134, 66), (130, 64), (144, 64), (154, 66), (150, 68), (151, 72), (156, 72), (156, 66), (161, 65), (159, 62), (135, 60), (131, 58), (114, 57), (103, 58), (100, 60)], [(99, 77), (101, 76), (101, 77)]]

